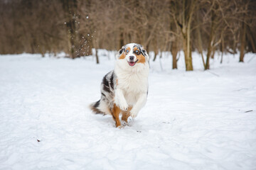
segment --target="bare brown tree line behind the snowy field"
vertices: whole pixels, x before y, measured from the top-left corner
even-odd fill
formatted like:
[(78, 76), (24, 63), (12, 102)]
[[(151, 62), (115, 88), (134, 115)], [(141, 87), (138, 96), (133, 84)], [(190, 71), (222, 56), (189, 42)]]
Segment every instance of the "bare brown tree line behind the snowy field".
[(240, 62), (256, 52), (255, 8), (253, 0), (0, 1), (0, 53), (65, 52), (75, 59), (137, 42), (154, 51), (154, 60), (170, 51), (174, 69), (183, 50), (187, 71), (198, 51), (210, 69), (216, 50), (240, 52)]

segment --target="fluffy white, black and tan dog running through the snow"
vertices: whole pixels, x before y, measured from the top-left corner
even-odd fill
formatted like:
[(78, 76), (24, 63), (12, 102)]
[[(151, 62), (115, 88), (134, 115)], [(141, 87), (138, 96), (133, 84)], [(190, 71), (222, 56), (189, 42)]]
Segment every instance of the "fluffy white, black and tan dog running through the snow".
[(92, 103), (94, 113), (112, 115), (116, 127), (129, 116), (137, 117), (148, 96), (149, 55), (142, 45), (129, 43), (118, 51), (114, 70), (107, 73), (100, 86), (101, 98)]

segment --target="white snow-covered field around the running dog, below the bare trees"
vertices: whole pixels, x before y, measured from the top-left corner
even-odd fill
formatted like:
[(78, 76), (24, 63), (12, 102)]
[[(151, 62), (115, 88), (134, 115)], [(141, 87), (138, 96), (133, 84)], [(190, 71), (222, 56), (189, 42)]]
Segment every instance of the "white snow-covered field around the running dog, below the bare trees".
[[(123, 129), (87, 106), (114, 55), (0, 56), (0, 169), (256, 169), (256, 56), (151, 62), (149, 96)], [(182, 54), (181, 54), (182, 55)]]

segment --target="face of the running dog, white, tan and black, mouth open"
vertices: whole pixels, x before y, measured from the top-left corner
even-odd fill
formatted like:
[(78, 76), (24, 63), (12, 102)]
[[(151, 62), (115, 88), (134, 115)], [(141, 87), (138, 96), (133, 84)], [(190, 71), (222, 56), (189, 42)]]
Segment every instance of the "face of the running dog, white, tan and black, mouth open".
[(118, 52), (119, 60), (127, 60), (127, 64), (130, 67), (134, 67), (136, 64), (145, 64), (149, 61), (149, 55), (142, 45), (136, 43), (130, 43), (124, 45)]

